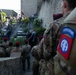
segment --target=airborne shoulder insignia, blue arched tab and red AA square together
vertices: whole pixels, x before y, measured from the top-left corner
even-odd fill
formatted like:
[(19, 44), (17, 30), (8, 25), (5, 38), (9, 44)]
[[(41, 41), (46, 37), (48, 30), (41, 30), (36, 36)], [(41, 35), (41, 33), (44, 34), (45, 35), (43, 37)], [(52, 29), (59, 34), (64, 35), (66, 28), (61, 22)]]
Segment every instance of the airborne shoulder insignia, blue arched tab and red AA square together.
[(58, 52), (68, 60), (73, 39), (75, 38), (75, 31), (70, 27), (63, 27), (59, 40)]

